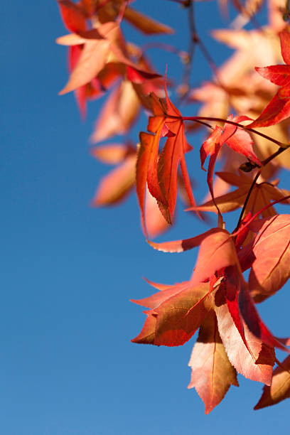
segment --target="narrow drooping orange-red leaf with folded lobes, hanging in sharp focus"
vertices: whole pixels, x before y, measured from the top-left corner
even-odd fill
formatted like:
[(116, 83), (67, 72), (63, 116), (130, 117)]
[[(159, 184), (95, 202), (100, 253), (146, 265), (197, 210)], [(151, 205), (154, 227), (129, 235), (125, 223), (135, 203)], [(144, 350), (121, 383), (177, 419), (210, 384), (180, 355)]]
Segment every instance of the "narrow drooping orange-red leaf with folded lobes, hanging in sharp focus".
[[(147, 183), (151, 195), (159, 203), (161, 213), (166, 221), (171, 223), (176, 206), (178, 165), (181, 166), (183, 183), (190, 204), (195, 205), (184, 156), (191, 147), (186, 140), (181, 113), (169, 100), (167, 92), (165, 101), (151, 94), (147, 104), (151, 105), (154, 116), (149, 118), (150, 133), (140, 134), (136, 166), (136, 189), (142, 222), (144, 222), (144, 190)], [(159, 156), (159, 141), (163, 136), (166, 136), (167, 140)]]

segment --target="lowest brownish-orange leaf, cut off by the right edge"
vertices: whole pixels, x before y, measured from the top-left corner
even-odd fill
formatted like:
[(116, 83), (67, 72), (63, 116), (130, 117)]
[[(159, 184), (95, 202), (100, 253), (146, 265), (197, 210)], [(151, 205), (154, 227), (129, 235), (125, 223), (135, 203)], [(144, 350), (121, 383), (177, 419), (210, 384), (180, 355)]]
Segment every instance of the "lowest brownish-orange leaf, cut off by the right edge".
[(265, 385), (254, 409), (262, 409), (290, 397), (290, 356), (275, 368), (271, 385)]

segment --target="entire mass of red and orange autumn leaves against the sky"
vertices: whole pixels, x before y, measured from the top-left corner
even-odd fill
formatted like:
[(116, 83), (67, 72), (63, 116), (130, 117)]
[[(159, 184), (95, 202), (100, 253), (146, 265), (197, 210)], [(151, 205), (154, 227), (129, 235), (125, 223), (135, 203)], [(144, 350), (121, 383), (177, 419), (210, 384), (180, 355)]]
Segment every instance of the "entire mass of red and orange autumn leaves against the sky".
[[(85, 116), (87, 100), (110, 91), (92, 134), (95, 142), (127, 134), (142, 108), (150, 112), (147, 131), (140, 133), (138, 144), (127, 140), (92, 149), (100, 161), (117, 165), (100, 182), (92, 203), (118, 203), (136, 185), (144, 235), (154, 249), (183, 252), (199, 247), (188, 281), (172, 286), (149, 282), (158, 292), (134, 301), (149, 309), (144, 311), (141, 333), (132, 341), (177, 346), (199, 330), (188, 387), (195, 387), (205, 412), (222, 400), (230, 385), (238, 386), (237, 372), (264, 384), (255, 407), (259, 409), (290, 397), (290, 357), (279, 362), (275, 356), (275, 349), (289, 352), (290, 340), (276, 338), (256, 308), (290, 276), (290, 215), (278, 214), (274, 208), (276, 203), (290, 202), (290, 192), (279, 188), (274, 178), (290, 168), (287, 11), (279, 0), (269, 0), (267, 26), (215, 31), (218, 41), (235, 50), (217, 68), (195, 31), (193, 1), (176, 3), (188, 11), (192, 36), (188, 54), (168, 45), (160, 48), (186, 60), (184, 80), (176, 90), (188, 104), (201, 103), (198, 114), (183, 117), (168, 97), (166, 78), (156, 73), (144, 49), (125, 40), (123, 20), (144, 35), (173, 32), (131, 8), (128, 0), (58, 1), (63, 22), (72, 32), (57, 40), (69, 49), (70, 78), (60, 94), (74, 91)], [(227, 4), (221, 6), (225, 9)], [(255, 20), (262, 1), (235, 1), (235, 6), (239, 11), (235, 26), (244, 26)], [(189, 80), (196, 44), (214, 77), (193, 89)], [(203, 170), (209, 156), (210, 200), (197, 205), (186, 166), (186, 154), (193, 150), (186, 134), (202, 125), (211, 131), (200, 146)], [(215, 173), (220, 156), (222, 171)], [(186, 240), (149, 241), (173, 224), (178, 191), (196, 217), (216, 213), (217, 227)], [(223, 215), (237, 209), (240, 218), (230, 233)]]

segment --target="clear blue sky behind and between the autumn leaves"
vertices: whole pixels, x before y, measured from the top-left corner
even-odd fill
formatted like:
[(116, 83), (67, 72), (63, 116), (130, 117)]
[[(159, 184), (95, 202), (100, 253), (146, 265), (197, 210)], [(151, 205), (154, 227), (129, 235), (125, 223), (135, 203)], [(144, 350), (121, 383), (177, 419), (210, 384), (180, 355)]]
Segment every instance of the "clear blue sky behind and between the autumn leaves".
[[(135, 6), (178, 28), (162, 41), (187, 48), (186, 13), (178, 5), (139, 0)], [(207, 29), (223, 26), (217, 6), (199, 3), (197, 9), (198, 30), (213, 44)], [(89, 154), (100, 104), (89, 105), (82, 123), (73, 95), (58, 96), (67, 79), (65, 48), (54, 43), (66, 33), (58, 6), (53, 0), (4, 1), (1, 16), (0, 433), (284, 431), (289, 403), (252, 411), (262, 385), (241, 376), (240, 388), (231, 387), (205, 417), (198, 394), (186, 388), (192, 341), (180, 348), (130, 342), (144, 315), (129, 299), (152, 292), (141, 276), (168, 284), (188, 279), (195, 252), (152, 251), (141, 233), (135, 195), (118, 208), (90, 208), (108, 171)], [(129, 39), (137, 38), (130, 32)], [(228, 53), (216, 44), (211, 49), (218, 63)], [(152, 54), (160, 60), (160, 53)], [(160, 60), (161, 72), (166, 63), (169, 74), (181, 71), (168, 56)], [(204, 63), (200, 70), (197, 65), (196, 83), (210, 77)], [(139, 128), (146, 128), (145, 118)], [(192, 143), (201, 180), (200, 139)], [(204, 230), (182, 215), (182, 207), (178, 212), (179, 226), (162, 240)], [(289, 335), (287, 291), (289, 286), (259, 308), (276, 335)]]

